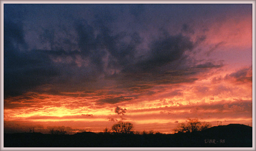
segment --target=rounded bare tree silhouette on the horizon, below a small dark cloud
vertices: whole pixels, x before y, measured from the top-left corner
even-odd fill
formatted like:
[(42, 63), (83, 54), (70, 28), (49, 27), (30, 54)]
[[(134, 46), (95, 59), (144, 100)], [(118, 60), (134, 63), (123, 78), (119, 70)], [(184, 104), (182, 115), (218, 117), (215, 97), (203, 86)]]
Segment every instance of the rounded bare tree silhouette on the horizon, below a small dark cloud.
[(117, 124), (114, 124), (112, 126), (112, 130), (115, 133), (119, 134), (128, 134), (131, 133), (131, 130), (133, 129), (133, 124), (129, 122), (122, 122), (119, 121)]

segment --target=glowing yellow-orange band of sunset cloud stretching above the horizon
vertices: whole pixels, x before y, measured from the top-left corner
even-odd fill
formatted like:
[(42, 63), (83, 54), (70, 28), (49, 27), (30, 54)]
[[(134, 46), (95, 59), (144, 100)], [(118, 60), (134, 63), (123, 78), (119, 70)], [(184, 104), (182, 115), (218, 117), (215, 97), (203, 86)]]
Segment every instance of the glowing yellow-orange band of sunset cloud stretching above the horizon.
[[(171, 132), (175, 127), (177, 124), (174, 123), (175, 121), (181, 123), (186, 118), (199, 118), (202, 121), (212, 122), (213, 125), (216, 121), (222, 121), (223, 124), (238, 122), (251, 125), (252, 83), (251, 81), (237, 81), (228, 75), (230, 74), (221, 71), (186, 86), (179, 85), (171, 88), (172, 85), (170, 85), (171, 89), (165, 90), (153, 87), (154, 91), (161, 91), (147, 97), (141, 95), (129, 103), (104, 104), (103, 106), (97, 105), (97, 100), (110, 97), (110, 95), (98, 95), (97, 93), (102, 93), (101, 91), (91, 93), (89, 97), (28, 92), (5, 100), (4, 121), (6, 124), (18, 121), (32, 125), (37, 123), (44, 127), (52, 126), (54, 122), (59, 124), (72, 122), (74, 128), (80, 129), (86, 127), (79, 127), (75, 121), (82, 122), (84, 125), (89, 122), (91, 130), (101, 131), (104, 127), (111, 127), (111, 124), (122, 117), (138, 126), (135, 127), (136, 130), (146, 128), (149, 130), (150, 128), (166, 133)], [(221, 77), (217, 83), (214, 81), (216, 76)], [(165, 85), (165, 87), (169, 86)], [(170, 95), (175, 90), (178, 90), (177, 94)], [(82, 92), (72, 94), (81, 95)], [(28, 96), (32, 99), (28, 99)], [(157, 97), (159, 99), (155, 100)], [(116, 106), (126, 108), (126, 114), (115, 114)], [(110, 120), (111, 118), (113, 121)], [(104, 123), (103, 126), (98, 126), (98, 122)], [(147, 126), (154, 125), (154, 123), (155, 127)], [(144, 127), (139, 127), (143, 124), (145, 124)], [(165, 126), (158, 129), (157, 127), (161, 124)]]

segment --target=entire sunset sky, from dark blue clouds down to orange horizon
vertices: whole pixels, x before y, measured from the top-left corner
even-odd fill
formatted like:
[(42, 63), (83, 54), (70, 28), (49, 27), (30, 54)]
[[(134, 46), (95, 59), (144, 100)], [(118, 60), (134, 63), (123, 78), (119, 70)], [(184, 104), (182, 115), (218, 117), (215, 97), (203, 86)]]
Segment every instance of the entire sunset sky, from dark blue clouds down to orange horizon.
[(4, 132), (252, 126), (252, 4), (4, 4)]

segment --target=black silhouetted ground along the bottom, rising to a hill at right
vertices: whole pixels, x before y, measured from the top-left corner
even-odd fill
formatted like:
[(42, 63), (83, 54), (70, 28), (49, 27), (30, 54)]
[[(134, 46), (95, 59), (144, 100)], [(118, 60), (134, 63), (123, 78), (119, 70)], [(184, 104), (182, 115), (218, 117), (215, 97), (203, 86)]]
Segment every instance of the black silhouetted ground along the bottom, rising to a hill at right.
[(5, 133), (4, 147), (252, 147), (252, 127), (229, 124), (175, 134)]

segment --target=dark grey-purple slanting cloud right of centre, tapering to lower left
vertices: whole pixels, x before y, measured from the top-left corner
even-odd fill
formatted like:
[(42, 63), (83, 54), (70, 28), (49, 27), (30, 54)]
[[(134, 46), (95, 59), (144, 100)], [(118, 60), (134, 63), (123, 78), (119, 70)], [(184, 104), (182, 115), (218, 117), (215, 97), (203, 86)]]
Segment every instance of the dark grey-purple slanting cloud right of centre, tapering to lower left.
[(145, 59), (139, 60), (135, 66), (124, 71), (150, 72), (152, 69), (161, 67), (166, 63), (181, 60), (185, 51), (191, 50), (193, 43), (189, 37), (179, 35), (164, 35), (153, 41), (150, 45), (150, 52)]

